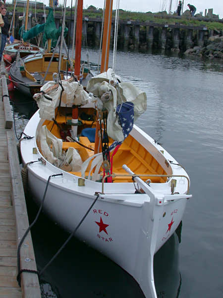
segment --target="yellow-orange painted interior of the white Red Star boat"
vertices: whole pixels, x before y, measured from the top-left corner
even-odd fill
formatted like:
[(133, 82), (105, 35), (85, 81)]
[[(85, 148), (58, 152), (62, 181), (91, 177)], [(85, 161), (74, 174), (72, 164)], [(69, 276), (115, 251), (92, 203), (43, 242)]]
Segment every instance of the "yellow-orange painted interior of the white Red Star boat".
[[(81, 109), (80, 109), (81, 110)], [(61, 108), (56, 112), (56, 122), (59, 124), (60, 128), (65, 128), (65, 121), (71, 119), (71, 116), (64, 116), (68, 109)], [(91, 109), (86, 111), (86, 113), (92, 113)], [(69, 115), (69, 113), (68, 113)], [(79, 113), (80, 115), (80, 113)], [(90, 127), (90, 123), (85, 123), (85, 127)], [(43, 125), (47, 125), (47, 128), (51, 133), (53, 133), (57, 138), (61, 139), (60, 129), (54, 122), (46, 120)], [(93, 126), (94, 127), (94, 126)], [(66, 127), (67, 129), (67, 127)], [(70, 129), (70, 128), (68, 128)], [(91, 149), (94, 149), (95, 143), (90, 143), (87, 137), (80, 137), (79, 142)], [(113, 140), (110, 140), (112, 144)], [(110, 144), (110, 145), (111, 145)], [(78, 150), (82, 161), (85, 161), (88, 157), (94, 154), (94, 151), (83, 148), (76, 142), (63, 142), (62, 149), (67, 150), (68, 147), (73, 147)], [(120, 148), (117, 150), (116, 154), (113, 156), (113, 174), (126, 174), (126, 171), (122, 169), (122, 165), (126, 164), (135, 174), (155, 174), (155, 175), (167, 175), (167, 172), (159, 164), (159, 162), (148, 152), (139, 142), (137, 142), (132, 136), (128, 136)], [(88, 166), (87, 172), (90, 169)], [(103, 171), (103, 168), (101, 168)], [(81, 176), (80, 172), (73, 172), (77, 176)], [(88, 174), (88, 173), (86, 173)], [(166, 177), (143, 177), (143, 180), (151, 179), (154, 183), (166, 182)], [(113, 182), (132, 182), (131, 177), (113, 177)]]

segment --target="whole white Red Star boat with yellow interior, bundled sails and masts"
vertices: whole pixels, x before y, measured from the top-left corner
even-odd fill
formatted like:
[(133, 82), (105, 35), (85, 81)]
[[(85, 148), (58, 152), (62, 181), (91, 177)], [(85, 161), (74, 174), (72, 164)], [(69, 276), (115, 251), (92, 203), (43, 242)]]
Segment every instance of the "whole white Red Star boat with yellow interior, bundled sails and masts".
[[(110, 25), (111, 10), (108, 0)], [(105, 28), (109, 37), (111, 27)], [(49, 217), (70, 232), (79, 226), (77, 237), (132, 275), (147, 298), (157, 298), (154, 254), (182, 220), (189, 177), (133, 125), (146, 95), (108, 70), (110, 44), (103, 46), (102, 74), (89, 80), (90, 93), (70, 78), (48, 82), (34, 95), (40, 110), (24, 130), (32, 138), (21, 141), (21, 155), (29, 188), (37, 204), (45, 199)], [(76, 58), (75, 67), (78, 75)]]

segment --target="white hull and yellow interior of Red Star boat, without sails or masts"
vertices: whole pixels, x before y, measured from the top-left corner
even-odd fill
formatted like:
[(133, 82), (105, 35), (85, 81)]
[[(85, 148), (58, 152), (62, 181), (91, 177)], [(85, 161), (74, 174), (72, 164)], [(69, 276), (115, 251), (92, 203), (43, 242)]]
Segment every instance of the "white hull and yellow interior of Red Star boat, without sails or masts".
[[(59, 93), (59, 90), (55, 92)], [(79, 112), (86, 111), (87, 114), (92, 106), (92, 103), (84, 105)], [(54, 121), (41, 119), (40, 111), (28, 122), (24, 133), (34, 138), (21, 141), (21, 154), (24, 164), (28, 164), (30, 190), (40, 204), (48, 179), (52, 177), (44, 210), (68, 231), (75, 229), (99, 195), (76, 236), (132, 275), (146, 297), (150, 297), (151, 293), (152, 297), (157, 297), (153, 256), (182, 219), (187, 199), (191, 197), (188, 175), (161, 145), (135, 125), (113, 156), (115, 176), (112, 183), (104, 182), (103, 173), (99, 173), (93, 181), (91, 165), (86, 168), (84, 163), (81, 166), (81, 170), (86, 169), (84, 174), (80, 169), (75, 171), (75, 168), (62, 170), (63, 166), (54, 165), (58, 143), (64, 151), (77, 149), (83, 162), (94, 155), (90, 149), (96, 147), (96, 143), (83, 136), (79, 138), (79, 143), (85, 147), (76, 142), (56, 142), (59, 126), (62, 123), (63, 127), (65, 123), (70, 126), (71, 117), (68, 115), (71, 109), (65, 104), (60, 107), (56, 112), (56, 125)], [(84, 124), (90, 127), (91, 122), (85, 121)], [(42, 138), (43, 131), (48, 131), (45, 140)], [(46, 153), (44, 142), (53, 159), (49, 152)], [(29, 164), (36, 160), (39, 161)], [(136, 174), (135, 183), (132, 181), (133, 172)], [(57, 174), (61, 175), (53, 177)], [(135, 188), (139, 190), (137, 193)]]

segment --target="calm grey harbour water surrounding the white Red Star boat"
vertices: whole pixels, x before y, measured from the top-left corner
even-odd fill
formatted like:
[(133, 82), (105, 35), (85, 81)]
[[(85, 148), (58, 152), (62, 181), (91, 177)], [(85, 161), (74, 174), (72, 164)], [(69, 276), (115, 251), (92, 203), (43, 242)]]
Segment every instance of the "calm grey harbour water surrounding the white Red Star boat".
[[(86, 50), (82, 59), (87, 59)], [(92, 71), (98, 53), (89, 50)], [(117, 53), (116, 73), (144, 90), (147, 111), (137, 125), (163, 144), (187, 170), (190, 193), (181, 243), (174, 234), (155, 256), (160, 298), (223, 297), (223, 66), (164, 55)], [(112, 60), (111, 64), (112, 65)], [(23, 96), (15, 96), (18, 103)], [(15, 104), (17, 134), (33, 103)], [(37, 212), (28, 197), (30, 219)], [(68, 235), (41, 215), (32, 231), (43, 268)], [(109, 259), (75, 238), (43, 275), (61, 298), (143, 298), (137, 283)]]

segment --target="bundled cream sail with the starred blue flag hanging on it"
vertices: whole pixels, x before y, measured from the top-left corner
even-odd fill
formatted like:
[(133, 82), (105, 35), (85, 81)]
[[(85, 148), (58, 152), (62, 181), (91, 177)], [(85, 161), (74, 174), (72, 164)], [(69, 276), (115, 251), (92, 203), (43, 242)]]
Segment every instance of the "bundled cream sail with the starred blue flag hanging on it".
[(107, 133), (116, 143), (124, 141), (134, 121), (146, 111), (146, 93), (130, 82), (122, 82), (111, 69), (90, 79), (87, 90), (95, 96), (100, 110), (108, 111)]

